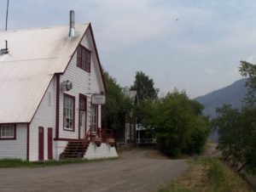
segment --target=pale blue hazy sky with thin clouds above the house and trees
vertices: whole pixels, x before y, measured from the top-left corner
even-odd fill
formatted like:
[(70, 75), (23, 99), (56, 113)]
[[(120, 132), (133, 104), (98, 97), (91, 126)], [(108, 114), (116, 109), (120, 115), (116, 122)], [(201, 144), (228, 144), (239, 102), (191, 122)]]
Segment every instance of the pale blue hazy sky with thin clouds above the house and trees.
[[(0, 30), (7, 0), (0, 0)], [(194, 98), (241, 78), (241, 59), (256, 60), (253, 0), (9, 0), (9, 30), (91, 22), (103, 65), (122, 86), (136, 71), (160, 93)]]

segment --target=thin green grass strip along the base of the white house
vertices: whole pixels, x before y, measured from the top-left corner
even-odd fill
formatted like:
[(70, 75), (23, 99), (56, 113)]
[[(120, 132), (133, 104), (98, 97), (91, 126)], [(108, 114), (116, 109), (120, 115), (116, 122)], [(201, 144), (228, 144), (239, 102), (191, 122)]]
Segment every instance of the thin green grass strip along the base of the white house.
[(20, 159), (1, 159), (0, 168), (9, 167), (51, 167), (61, 166), (66, 164), (79, 164), (79, 163), (90, 163), (96, 161), (111, 161), (117, 160), (119, 157), (102, 158), (95, 160), (63, 160), (63, 161), (22, 161)]

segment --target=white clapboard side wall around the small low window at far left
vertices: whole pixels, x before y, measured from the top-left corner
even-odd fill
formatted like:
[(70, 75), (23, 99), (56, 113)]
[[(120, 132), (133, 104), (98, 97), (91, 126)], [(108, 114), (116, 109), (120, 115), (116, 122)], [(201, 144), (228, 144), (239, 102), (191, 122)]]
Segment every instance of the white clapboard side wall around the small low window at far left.
[(0, 140), (0, 158), (26, 160), (26, 124), (16, 125), (15, 140)]

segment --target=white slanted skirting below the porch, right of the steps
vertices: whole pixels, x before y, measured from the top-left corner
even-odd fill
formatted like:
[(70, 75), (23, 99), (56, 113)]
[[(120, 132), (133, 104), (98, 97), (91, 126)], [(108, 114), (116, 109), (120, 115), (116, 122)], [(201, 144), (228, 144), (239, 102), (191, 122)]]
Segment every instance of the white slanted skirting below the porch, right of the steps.
[(100, 147), (97, 147), (95, 143), (91, 142), (84, 155), (84, 159), (102, 159), (118, 157), (115, 147), (111, 147), (109, 144), (102, 143)]

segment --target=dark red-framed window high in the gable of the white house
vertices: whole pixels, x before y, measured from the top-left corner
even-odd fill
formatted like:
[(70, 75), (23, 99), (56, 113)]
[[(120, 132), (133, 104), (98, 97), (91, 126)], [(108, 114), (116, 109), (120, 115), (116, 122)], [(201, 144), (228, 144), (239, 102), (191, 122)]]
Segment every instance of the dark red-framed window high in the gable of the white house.
[(90, 50), (82, 45), (77, 48), (77, 66), (90, 73)]

